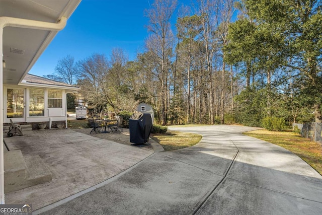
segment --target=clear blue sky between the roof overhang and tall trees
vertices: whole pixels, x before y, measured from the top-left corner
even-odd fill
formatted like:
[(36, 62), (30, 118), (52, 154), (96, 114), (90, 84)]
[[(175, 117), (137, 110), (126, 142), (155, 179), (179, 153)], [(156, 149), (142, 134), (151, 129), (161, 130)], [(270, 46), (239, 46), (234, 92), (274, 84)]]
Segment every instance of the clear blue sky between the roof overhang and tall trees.
[[(190, 0), (179, 0), (178, 4), (183, 2)], [(93, 53), (109, 57), (113, 48), (122, 48), (129, 60), (135, 59), (136, 53), (143, 51), (148, 35), (144, 10), (152, 3), (153, 0), (83, 0), (29, 73), (50, 75), (57, 61), (68, 54), (75, 61)]]

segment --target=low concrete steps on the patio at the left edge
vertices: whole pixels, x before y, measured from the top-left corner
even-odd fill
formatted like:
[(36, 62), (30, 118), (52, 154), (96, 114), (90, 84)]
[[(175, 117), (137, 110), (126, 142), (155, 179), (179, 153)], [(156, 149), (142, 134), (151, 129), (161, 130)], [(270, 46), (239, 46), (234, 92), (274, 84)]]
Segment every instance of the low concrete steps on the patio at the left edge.
[(4, 153), (5, 192), (13, 192), (52, 180), (52, 174), (39, 156), (24, 157), (21, 150)]

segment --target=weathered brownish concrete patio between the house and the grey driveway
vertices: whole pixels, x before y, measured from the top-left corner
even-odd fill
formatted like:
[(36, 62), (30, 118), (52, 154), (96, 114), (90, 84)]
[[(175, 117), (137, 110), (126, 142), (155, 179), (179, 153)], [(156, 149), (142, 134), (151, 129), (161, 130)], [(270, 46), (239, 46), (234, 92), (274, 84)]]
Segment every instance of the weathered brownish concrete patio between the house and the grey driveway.
[(6, 203), (29, 203), (36, 210), (123, 172), (160, 147), (155, 142), (143, 148), (130, 146), (128, 129), (122, 134), (89, 135), (90, 130), (32, 130), (5, 138), (10, 151), (38, 155), (52, 173), (50, 182), (6, 193)]

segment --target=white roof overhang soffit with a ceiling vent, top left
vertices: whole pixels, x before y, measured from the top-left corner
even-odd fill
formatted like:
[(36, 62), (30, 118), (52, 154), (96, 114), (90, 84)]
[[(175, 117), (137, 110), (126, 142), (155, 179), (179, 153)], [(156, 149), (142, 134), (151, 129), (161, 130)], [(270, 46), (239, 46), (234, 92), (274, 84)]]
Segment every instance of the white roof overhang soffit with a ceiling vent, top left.
[[(81, 0), (0, 1), (0, 17), (58, 23), (69, 18)], [(18, 85), (57, 34), (57, 30), (5, 27), (3, 32), (3, 83)]]

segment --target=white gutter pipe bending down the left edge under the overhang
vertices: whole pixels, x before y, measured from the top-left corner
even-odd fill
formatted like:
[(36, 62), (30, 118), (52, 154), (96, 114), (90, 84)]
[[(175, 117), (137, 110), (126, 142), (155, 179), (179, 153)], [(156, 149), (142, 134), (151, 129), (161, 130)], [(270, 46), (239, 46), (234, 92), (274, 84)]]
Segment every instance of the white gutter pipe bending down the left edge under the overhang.
[[(67, 18), (61, 17), (58, 23), (27, 20), (14, 17), (0, 17), (0, 62), (3, 60), (3, 33), (5, 27), (28, 28), (45, 31), (60, 31), (66, 26)], [(0, 66), (0, 204), (5, 204), (4, 169), (4, 68)]]

